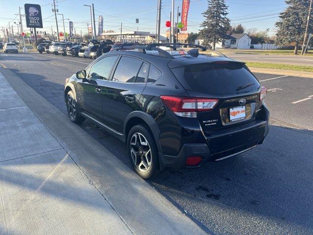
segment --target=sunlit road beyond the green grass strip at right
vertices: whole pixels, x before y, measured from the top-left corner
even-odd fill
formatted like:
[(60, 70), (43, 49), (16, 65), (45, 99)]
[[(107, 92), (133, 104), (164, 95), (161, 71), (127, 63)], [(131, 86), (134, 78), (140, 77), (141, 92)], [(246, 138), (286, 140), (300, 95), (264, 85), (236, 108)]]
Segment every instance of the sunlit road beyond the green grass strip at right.
[(246, 53), (240, 53), (240, 52), (237, 52), (237, 53), (223, 52), (223, 53), (231, 59), (244, 61), (244, 62), (260, 62), (260, 63), (313, 66), (313, 56), (260, 55), (260, 54), (246, 54)]

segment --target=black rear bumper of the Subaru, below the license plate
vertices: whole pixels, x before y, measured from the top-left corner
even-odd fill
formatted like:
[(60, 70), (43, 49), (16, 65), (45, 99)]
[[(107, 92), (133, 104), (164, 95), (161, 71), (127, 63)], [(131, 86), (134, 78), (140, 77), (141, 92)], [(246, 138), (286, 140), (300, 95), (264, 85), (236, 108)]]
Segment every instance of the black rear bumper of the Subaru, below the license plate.
[[(161, 155), (162, 168), (199, 167), (207, 161), (220, 161), (246, 152), (263, 143), (268, 134), (268, 121), (259, 120), (220, 132), (204, 133), (205, 143), (186, 143), (177, 156)], [(201, 157), (200, 164), (186, 166), (187, 157)]]

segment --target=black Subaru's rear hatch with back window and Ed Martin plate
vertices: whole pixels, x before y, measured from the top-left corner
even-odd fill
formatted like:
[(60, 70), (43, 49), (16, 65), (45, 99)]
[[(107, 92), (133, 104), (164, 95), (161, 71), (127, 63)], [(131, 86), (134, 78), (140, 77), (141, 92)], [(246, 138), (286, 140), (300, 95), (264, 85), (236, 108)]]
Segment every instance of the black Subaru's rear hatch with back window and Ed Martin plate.
[(212, 110), (197, 112), (204, 132), (252, 121), (262, 105), (260, 83), (244, 63), (217, 61), (172, 71), (190, 97), (218, 100)]

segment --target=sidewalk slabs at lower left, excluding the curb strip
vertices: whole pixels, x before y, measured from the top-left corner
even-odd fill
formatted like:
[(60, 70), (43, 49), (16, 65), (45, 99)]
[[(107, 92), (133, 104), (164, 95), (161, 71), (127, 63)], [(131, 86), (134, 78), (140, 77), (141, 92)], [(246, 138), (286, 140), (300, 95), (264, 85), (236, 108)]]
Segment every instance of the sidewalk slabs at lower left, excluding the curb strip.
[(132, 234), (0, 74), (0, 234)]

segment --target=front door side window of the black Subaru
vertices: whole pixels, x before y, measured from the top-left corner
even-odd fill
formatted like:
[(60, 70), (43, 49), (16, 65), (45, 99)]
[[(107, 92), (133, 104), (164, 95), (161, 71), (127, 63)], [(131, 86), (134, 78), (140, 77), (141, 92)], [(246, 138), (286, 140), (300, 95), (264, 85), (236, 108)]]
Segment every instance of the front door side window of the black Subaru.
[(117, 57), (118, 57), (117, 55), (104, 57), (103, 59), (94, 63), (91, 66), (88, 78), (89, 79), (108, 80), (109, 75), (110, 75), (110, 71), (115, 64)]

